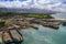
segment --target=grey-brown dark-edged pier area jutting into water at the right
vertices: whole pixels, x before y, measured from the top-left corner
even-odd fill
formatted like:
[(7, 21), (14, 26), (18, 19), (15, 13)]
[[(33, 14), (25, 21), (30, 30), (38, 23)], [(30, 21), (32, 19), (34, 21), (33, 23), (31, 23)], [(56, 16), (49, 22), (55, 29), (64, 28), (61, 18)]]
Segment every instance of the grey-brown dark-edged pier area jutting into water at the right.
[(59, 29), (59, 25), (66, 25), (65, 19), (33, 19), (31, 20), (32, 23), (42, 24), (43, 26), (52, 28), (52, 29)]

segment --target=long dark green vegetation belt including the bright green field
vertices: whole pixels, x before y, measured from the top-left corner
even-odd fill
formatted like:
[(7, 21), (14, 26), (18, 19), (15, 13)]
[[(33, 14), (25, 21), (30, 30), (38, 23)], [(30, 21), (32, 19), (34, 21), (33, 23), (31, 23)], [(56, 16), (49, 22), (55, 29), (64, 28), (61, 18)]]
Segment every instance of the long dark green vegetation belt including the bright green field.
[(13, 16), (25, 16), (25, 18), (38, 18), (38, 19), (53, 19), (53, 16), (51, 16), (51, 13), (46, 13), (46, 14), (41, 14), (41, 13), (0, 13), (0, 18), (13, 18)]

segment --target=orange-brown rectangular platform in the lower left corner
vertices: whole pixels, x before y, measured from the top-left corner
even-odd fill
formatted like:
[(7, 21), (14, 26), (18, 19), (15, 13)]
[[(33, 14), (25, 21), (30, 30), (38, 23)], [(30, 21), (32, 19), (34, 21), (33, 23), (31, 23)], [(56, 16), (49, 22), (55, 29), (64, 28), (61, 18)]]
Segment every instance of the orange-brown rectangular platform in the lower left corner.
[(2, 33), (2, 40), (3, 40), (4, 44), (11, 44), (12, 43), (12, 38), (11, 38), (11, 36), (10, 36), (8, 31), (4, 31)]

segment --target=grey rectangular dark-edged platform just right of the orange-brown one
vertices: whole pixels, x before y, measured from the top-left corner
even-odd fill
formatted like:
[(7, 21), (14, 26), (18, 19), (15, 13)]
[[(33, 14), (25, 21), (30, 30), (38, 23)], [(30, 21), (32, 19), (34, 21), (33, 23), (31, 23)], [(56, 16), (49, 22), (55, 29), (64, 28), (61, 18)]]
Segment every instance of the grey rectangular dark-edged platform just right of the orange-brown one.
[(13, 38), (13, 43), (21, 44), (23, 42), (23, 36), (16, 30), (10, 30), (9, 32)]

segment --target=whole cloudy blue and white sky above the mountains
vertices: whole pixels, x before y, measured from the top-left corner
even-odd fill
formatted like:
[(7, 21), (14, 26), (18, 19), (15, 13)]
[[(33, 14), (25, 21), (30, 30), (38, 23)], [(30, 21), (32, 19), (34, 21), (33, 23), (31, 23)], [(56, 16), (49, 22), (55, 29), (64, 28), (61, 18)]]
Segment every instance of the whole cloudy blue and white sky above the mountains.
[(0, 0), (0, 8), (35, 8), (66, 12), (66, 0)]

